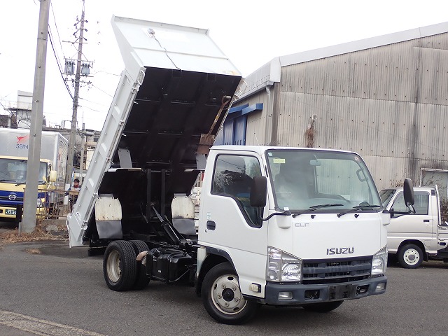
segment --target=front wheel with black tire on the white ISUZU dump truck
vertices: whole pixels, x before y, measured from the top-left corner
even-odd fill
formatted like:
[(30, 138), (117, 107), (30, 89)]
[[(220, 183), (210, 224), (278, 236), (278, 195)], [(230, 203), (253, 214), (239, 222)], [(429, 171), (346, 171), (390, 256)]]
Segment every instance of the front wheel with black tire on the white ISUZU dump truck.
[(241, 324), (255, 316), (259, 304), (244, 299), (235, 269), (228, 263), (216, 265), (204, 277), (202, 302), (219, 323)]

